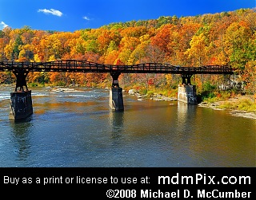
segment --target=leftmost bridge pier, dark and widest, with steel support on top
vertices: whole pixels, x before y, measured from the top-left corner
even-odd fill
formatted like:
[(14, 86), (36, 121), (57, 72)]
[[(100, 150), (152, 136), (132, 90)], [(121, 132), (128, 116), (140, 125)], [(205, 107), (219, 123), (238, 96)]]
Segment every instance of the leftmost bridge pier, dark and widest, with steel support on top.
[[(15, 92), (10, 92), (10, 120), (22, 120), (33, 114), (31, 90), (26, 85), (28, 72), (14, 71), (17, 78)], [(26, 90), (24, 91), (24, 87)], [(18, 90), (19, 88), (19, 90)]]

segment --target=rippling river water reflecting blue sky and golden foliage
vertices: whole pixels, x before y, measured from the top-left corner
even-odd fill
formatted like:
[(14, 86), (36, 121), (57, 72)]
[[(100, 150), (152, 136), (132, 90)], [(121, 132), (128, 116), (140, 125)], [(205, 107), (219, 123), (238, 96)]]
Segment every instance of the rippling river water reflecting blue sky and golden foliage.
[(0, 88), (0, 167), (256, 167), (256, 120), (177, 101), (109, 108), (109, 90), (30, 88), (34, 114), (9, 120)]

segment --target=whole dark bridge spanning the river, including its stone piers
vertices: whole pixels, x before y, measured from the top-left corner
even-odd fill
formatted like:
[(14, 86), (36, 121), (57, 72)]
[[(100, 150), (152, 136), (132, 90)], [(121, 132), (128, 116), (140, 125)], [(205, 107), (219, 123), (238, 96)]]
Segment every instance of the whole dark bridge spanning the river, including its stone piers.
[[(122, 102), (122, 88), (118, 84), (118, 76), (121, 73), (165, 73), (165, 74), (180, 74), (182, 76), (182, 85), (185, 87), (181, 88), (178, 95), (178, 100), (190, 103), (196, 101), (194, 97), (195, 87), (191, 87), (190, 78), (194, 74), (234, 74), (234, 70), (230, 65), (205, 65), (199, 67), (182, 67), (177, 65), (169, 65), (162, 63), (142, 63), (136, 65), (104, 65), (90, 61), (80, 60), (59, 60), (49, 62), (15, 62), (15, 61), (0, 61), (0, 72), (11, 71), (16, 76), (16, 88), (15, 92), (11, 92), (11, 108), (12, 114), (18, 113), (14, 109), (14, 105), (17, 104), (22, 94), (18, 94), (19, 91), (29, 91), (26, 85), (26, 76), (30, 72), (68, 72), (68, 73), (110, 73), (112, 76), (112, 88), (110, 91), (110, 107), (115, 110), (123, 110)], [(28, 97), (28, 103), (31, 104), (31, 94), (28, 93), (23, 97)], [(22, 98), (23, 98), (22, 97)], [(23, 100), (24, 101), (24, 100)], [(25, 100), (26, 101), (26, 100)], [(25, 102), (24, 101), (24, 102)], [(30, 108), (32, 110), (32, 108)], [(33, 112), (33, 111), (30, 111)], [(26, 115), (25, 115), (26, 116)], [(15, 118), (15, 117), (14, 117)]]

